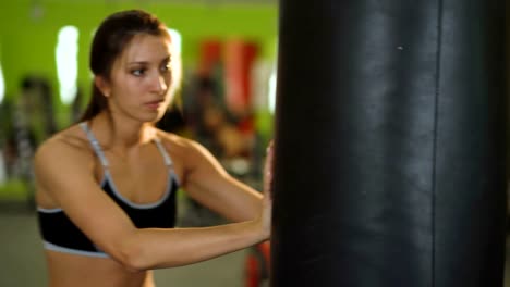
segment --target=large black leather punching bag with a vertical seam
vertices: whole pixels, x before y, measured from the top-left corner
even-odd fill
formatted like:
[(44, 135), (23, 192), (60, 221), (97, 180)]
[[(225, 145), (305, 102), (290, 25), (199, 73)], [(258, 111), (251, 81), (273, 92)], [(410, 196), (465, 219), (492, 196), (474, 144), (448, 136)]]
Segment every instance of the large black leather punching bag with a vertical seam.
[(270, 285), (502, 286), (505, 1), (279, 9)]

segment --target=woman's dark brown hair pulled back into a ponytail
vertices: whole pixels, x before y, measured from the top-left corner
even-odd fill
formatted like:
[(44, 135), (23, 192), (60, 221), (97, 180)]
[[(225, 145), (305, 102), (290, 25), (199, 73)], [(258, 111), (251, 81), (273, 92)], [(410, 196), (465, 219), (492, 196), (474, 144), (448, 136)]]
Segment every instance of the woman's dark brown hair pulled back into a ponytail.
[[(96, 30), (90, 49), (89, 67), (94, 75), (110, 79), (116, 59), (138, 34), (170, 37), (161, 21), (142, 10), (121, 11), (105, 18)], [(80, 122), (88, 121), (107, 109), (107, 99), (93, 82), (92, 98)]]

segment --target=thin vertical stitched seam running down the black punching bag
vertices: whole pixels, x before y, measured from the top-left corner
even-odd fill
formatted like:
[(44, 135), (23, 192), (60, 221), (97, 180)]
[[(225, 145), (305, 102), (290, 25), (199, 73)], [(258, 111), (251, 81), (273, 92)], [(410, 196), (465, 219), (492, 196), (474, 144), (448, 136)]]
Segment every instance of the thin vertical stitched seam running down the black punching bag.
[(432, 286), (436, 286), (436, 172), (437, 172), (437, 138), (439, 122), (439, 93), (441, 75), (441, 46), (442, 46), (442, 0), (438, 0), (437, 9), (437, 47), (434, 97), (434, 141), (433, 141), (433, 172), (432, 172)]

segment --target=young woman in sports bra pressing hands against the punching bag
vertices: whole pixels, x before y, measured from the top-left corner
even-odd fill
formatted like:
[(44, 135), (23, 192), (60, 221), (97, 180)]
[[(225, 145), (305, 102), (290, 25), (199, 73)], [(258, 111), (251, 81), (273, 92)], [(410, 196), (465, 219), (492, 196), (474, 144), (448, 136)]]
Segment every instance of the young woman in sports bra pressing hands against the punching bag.
[[(269, 196), (229, 176), (197, 142), (155, 127), (172, 100), (171, 40), (144, 11), (107, 17), (93, 41), (95, 85), (84, 117), (37, 150), (50, 287), (149, 287), (153, 269), (199, 262), (269, 237)], [(173, 228), (179, 186), (235, 223)]]

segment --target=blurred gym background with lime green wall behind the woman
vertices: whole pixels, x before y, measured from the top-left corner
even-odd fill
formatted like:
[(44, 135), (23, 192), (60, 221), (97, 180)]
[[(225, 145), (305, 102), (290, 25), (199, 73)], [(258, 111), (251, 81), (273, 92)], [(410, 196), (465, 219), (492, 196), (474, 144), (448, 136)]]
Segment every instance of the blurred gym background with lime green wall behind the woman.
[[(0, 286), (46, 286), (35, 217), (32, 157), (75, 123), (90, 93), (89, 46), (108, 14), (144, 9), (169, 28), (182, 85), (158, 123), (206, 146), (241, 180), (260, 188), (272, 137), (277, 0), (16, 0), (0, 2)], [(223, 220), (179, 192), (179, 225)], [(156, 272), (158, 286), (263, 284), (251, 248)], [(251, 277), (251, 278), (250, 278)], [(248, 283), (248, 280), (252, 283)]]

